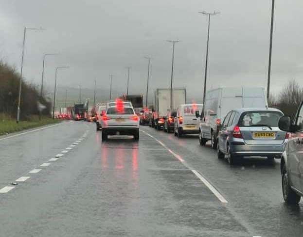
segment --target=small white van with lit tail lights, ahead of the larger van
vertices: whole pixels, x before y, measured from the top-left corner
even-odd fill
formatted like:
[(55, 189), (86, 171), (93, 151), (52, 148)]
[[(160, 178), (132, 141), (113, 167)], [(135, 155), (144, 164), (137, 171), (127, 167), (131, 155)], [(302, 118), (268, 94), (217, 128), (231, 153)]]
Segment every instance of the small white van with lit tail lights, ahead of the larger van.
[(199, 133), (199, 120), (196, 118), (196, 111), (201, 113), (202, 109), (202, 104), (178, 105), (177, 118), (175, 119), (175, 136)]

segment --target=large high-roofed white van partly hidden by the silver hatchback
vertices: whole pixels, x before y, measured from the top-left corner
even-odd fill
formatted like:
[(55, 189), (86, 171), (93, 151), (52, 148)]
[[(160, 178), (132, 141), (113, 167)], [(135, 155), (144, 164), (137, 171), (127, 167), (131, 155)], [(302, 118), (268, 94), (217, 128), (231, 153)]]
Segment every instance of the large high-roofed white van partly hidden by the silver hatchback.
[(204, 110), (199, 117), (199, 142), (205, 145), (209, 140), (217, 147), (217, 131), (226, 114), (233, 109), (265, 108), (267, 98), (262, 87), (226, 87), (206, 93)]

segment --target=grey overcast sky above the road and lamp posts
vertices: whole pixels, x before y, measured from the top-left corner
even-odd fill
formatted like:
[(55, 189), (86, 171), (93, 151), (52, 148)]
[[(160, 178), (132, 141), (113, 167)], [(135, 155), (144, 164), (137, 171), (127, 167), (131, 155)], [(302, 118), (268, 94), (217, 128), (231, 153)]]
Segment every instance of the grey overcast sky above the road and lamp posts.
[[(145, 93), (147, 60), (152, 57), (150, 95), (170, 85), (172, 46), (175, 49), (174, 86), (189, 96), (202, 97), (207, 40), (207, 17), (198, 11), (219, 11), (211, 18), (207, 88), (266, 86), (271, 0), (0, 0), (0, 56), (20, 70), (23, 27), (28, 31), (24, 76), (40, 84), (43, 53), (59, 52), (46, 61), (45, 81)], [(272, 89), (288, 79), (302, 84), (303, 1), (277, 0), (275, 8)]]

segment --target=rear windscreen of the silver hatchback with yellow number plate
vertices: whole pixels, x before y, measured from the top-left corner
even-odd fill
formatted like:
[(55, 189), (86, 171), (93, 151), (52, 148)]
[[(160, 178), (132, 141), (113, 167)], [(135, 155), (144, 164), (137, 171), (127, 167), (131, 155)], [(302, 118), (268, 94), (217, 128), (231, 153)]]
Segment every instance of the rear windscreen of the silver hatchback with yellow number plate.
[(268, 125), (278, 126), (280, 117), (283, 114), (276, 111), (251, 111), (245, 112), (239, 121), (240, 126)]

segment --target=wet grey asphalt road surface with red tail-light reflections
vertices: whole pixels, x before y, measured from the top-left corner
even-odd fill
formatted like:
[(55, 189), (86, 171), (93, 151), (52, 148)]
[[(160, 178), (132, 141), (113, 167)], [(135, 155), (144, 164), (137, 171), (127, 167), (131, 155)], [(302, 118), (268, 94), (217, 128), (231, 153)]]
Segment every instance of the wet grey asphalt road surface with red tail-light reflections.
[(1, 237), (303, 236), (277, 159), (230, 166), (195, 135), (147, 126), (139, 142), (102, 142), (84, 122), (11, 136), (0, 137)]

